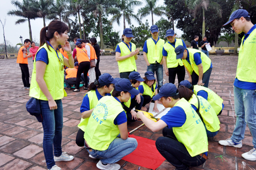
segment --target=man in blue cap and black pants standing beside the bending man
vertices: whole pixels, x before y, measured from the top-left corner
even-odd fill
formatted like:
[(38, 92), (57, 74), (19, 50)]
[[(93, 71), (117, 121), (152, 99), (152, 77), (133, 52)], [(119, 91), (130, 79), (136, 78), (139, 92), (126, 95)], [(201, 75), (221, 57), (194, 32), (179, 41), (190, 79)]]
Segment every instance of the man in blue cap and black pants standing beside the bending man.
[(176, 54), (174, 49), (176, 47), (184, 46), (186, 48), (186, 44), (182, 39), (176, 39), (176, 34), (173, 29), (168, 29), (166, 31), (166, 38), (168, 42), (164, 44), (163, 48), (163, 61), (166, 76), (169, 76), (169, 83), (175, 83), (175, 77), (177, 74), (178, 82), (184, 80), (185, 78), (185, 67), (182, 63), (181, 59), (176, 59)]

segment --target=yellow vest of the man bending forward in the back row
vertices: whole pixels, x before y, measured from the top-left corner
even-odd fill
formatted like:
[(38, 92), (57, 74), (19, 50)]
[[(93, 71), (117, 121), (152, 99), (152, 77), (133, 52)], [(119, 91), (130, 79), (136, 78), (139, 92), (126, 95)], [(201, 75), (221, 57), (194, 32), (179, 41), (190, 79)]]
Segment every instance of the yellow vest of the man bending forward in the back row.
[(202, 61), (202, 65), (203, 65), (203, 73), (205, 73), (206, 71), (208, 71), (208, 69), (211, 66), (211, 59), (206, 56), (205, 53), (199, 51), (198, 49), (191, 49), (191, 48), (186, 48), (186, 50), (189, 51), (189, 61), (186, 61), (186, 59), (183, 59), (183, 64), (186, 67), (186, 69), (189, 70), (190, 74), (192, 74), (192, 72), (194, 71), (196, 74), (198, 74), (199, 76), (199, 71), (198, 71), (198, 66), (196, 66), (195, 61), (194, 61), (194, 54), (195, 53), (200, 53), (201, 56), (201, 61)]

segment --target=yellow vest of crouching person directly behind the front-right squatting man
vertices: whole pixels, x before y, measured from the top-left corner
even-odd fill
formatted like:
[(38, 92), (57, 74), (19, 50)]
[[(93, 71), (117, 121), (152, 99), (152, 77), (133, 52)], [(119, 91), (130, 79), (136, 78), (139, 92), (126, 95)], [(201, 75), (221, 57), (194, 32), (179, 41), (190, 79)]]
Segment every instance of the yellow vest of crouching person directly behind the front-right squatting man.
[(206, 101), (205, 98), (198, 96), (196, 98), (195, 94), (190, 98), (189, 103), (193, 104), (196, 108), (198, 108), (198, 99), (200, 103), (200, 109), (199, 113), (201, 114), (201, 117), (203, 118), (203, 122), (205, 124), (205, 127), (210, 132), (216, 132), (220, 129), (220, 121), (215, 113), (213, 107), (211, 107), (210, 103)]

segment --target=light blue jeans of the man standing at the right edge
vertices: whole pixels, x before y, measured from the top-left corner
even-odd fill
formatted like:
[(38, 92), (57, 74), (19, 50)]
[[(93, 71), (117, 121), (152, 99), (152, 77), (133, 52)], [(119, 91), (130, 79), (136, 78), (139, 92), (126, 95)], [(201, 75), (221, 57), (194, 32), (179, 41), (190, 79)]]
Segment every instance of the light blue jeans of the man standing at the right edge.
[(244, 139), (246, 124), (253, 136), (253, 146), (256, 147), (256, 92), (234, 86), (235, 113), (237, 122), (232, 134), (232, 141), (239, 142)]

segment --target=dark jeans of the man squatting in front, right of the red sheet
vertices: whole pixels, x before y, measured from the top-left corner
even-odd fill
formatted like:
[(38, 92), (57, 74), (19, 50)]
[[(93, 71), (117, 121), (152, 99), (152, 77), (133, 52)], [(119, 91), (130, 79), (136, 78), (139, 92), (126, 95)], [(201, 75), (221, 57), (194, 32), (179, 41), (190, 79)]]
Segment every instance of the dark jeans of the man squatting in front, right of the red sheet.
[(172, 128), (165, 127), (163, 136), (156, 140), (156, 148), (176, 169), (188, 170), (190, 166), (198, 167), (205, 162), (200, 155), (190, 156), (184, 144), (175, 137)]

